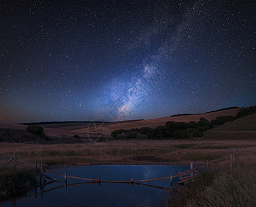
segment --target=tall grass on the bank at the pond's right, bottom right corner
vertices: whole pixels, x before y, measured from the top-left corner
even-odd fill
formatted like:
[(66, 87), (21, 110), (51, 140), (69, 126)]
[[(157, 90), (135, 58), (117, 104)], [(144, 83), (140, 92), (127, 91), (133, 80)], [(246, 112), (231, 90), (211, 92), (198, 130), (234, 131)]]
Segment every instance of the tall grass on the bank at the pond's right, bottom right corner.
[(165, 206), (255, 206), (255, 170), (252, 162), (232, 169), (214, 166), (181, 188), (178, 197), (169, 197)]

